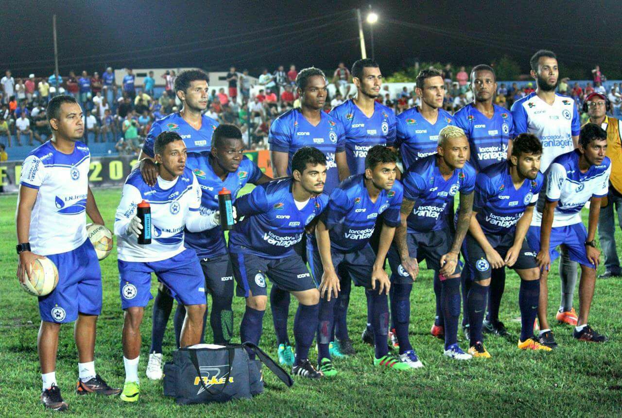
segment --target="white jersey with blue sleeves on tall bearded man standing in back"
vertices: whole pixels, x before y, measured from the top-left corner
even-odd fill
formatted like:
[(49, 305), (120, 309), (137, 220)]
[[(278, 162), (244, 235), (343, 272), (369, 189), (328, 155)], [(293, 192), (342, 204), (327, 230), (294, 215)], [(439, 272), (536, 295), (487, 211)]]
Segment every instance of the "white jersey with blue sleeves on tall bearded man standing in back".
[(542, 143), (540, 171), (544, 173), (556, 157), (572, 151), (572, 137), (581, 130), (577, 104), (572, 98), (555, 93), (548, 104), (536, 93), (527, 94), (512, 105), (514, 135), (528, 132)]

